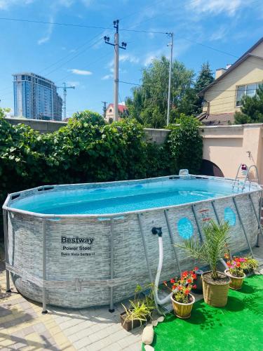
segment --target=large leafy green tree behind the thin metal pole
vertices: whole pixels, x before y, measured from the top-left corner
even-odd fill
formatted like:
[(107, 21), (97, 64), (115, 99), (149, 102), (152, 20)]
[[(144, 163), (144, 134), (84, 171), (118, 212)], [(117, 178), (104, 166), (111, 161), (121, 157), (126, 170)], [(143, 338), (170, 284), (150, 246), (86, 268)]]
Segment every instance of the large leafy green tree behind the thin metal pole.
[[(130, 117), (144, 126), (163, 128), (166, 126), (168, 100), (169, 60), (162, 56), (142, 69), (142, 85), (133, 88), (133, 97), (126, 99)], [(189, 113), (185, 96), (191, 91), (194, 71), (175, 60), (171, 79), (171, 122), (180, 113)], [(172, 113), (173, 111), (173, 113)]]

